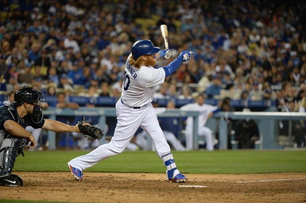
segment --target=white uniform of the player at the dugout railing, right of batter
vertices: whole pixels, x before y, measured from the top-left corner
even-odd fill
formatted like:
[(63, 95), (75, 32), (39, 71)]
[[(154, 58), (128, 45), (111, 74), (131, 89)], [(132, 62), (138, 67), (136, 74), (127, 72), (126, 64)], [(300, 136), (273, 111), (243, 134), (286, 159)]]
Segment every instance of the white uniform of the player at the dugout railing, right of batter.
[[(186, 104), (181, 107), (181, 110), (190, 110), (190, 111), (199, 111), (198, 117), (198, 135), (204, 136), (206, 141), (206, 149), (209, 151), (214, 150), (212, 144), (212, 133), (211, 129), (205, 127), (209, 113), (218, 109), (217, 106), (203, 104), (199, 105), (198, 103)], [(188, 116), (186, 121), (185, 129), (185, 138), (186, 138), (186, 148), (192, 149), (193, 143), (193, 117)]]

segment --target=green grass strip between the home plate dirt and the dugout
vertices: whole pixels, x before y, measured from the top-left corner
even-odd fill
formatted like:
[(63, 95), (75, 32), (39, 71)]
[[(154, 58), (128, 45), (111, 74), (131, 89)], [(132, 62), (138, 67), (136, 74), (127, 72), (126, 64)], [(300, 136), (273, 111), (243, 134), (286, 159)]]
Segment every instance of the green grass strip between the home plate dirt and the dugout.
[[(13, 171), (67, 171), (67, 162), (89, 151), (25, 151)], [(249, 174), (306, 172), (306, 151), (173, 151), (181, 173)], [(84, 172), (165, 173), (153, 151), (125, 151), (107, 158)]]

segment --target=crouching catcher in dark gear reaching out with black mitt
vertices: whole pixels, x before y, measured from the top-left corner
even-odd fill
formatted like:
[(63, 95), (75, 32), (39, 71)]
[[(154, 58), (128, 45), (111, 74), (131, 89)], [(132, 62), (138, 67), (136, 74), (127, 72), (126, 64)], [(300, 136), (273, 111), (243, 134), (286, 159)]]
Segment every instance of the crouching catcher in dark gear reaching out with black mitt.
[[(76, 132), (96, 139), (103, 137), (103, 131), (89, 123), (80, 121), (75, 126), (69, 126), (51, 119), (43, 119), (42, 92), (31, 87), (22, 87), (14, 94), (11, 105), (0, 106), (0, 186), (22, 186), (21, 177), (12, 174), (15, 159), (23, 154), (23, 148), (30, 143), (29, 148), (36, 147), (33, 135), (25, 130), (27, 126), (43, 128), (54, 132)], [(26, 142), (24, 142), (26, 138)]]

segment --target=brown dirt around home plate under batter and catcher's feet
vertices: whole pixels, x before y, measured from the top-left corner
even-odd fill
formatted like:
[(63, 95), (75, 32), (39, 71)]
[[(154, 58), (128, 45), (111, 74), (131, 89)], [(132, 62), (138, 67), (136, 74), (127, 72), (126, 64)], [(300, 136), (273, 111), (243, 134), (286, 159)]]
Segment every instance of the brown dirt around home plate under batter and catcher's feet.
[(70, 172), (16, 174), (22, 177), (24, 186), (0, 187), (0, 199), (121, 203), (306, 201), (306, 173), (186, 174), (188, 183), (166, 182), (166, 174), (161, 173), (85, 173), (82, 182), (76, 182)]

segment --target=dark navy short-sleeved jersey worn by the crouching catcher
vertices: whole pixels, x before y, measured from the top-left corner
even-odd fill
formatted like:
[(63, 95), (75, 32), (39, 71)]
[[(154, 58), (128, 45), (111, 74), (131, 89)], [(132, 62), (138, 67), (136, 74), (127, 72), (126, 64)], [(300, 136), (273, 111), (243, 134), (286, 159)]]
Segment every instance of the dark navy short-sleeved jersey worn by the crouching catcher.
[(19, 125), (21, 125), (23, 128), (26, 128), (27, 126), (32, 126), (35, 129), (43, 127), (43, 124), (45, 123), (45, 119), (42, 119), (39, 123), (34, 123), (32, 121), (31, 114), (27, 114), (21, 119), (17, 113), (17, 107), (12, 104), (0, 106), (0, 115), (1, 115), (0, 117), (0, 130), (1, 131), (5, 130), (3, 125), (7, 120), (13, 120)]

